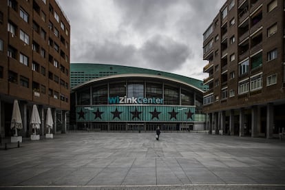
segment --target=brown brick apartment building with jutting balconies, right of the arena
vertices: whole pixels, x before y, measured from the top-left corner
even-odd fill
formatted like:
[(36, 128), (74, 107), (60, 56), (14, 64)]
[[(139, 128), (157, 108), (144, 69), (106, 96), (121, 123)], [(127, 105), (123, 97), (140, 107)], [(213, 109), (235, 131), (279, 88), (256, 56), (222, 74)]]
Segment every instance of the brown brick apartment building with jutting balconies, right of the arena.
[(284, 0), (227, 0), (204, 32), (209, 131), (276, 136), (285, 127)]

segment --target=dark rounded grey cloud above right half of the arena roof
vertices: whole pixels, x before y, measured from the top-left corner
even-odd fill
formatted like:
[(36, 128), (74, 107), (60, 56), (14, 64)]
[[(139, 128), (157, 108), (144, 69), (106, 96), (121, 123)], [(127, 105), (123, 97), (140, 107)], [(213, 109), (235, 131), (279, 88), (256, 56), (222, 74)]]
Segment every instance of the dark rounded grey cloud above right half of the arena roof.
[(142, 57), (156, 69), (175, 70), (191, 54), (189, 47), (167, 36), (156, 35), (145, 42), (141, 49)]

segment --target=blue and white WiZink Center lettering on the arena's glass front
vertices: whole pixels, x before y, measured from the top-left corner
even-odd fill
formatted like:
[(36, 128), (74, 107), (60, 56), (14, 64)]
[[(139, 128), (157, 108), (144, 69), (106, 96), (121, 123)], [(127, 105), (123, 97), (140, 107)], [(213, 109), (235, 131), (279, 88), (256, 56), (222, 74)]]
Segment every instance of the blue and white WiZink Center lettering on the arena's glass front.
[(109, 104), (163, 104), (163, 98), (143, 98), (143, 97), (109, 97)]

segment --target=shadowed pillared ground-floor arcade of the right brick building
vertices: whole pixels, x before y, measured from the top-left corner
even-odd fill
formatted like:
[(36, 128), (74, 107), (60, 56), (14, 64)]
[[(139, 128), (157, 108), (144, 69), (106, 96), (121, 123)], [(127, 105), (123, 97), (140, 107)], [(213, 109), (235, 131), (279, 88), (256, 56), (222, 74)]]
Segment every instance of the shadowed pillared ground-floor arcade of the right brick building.
[(268, 103), (207, 114), (210, 134), (278, 137), (285, 128), (285, 105)]

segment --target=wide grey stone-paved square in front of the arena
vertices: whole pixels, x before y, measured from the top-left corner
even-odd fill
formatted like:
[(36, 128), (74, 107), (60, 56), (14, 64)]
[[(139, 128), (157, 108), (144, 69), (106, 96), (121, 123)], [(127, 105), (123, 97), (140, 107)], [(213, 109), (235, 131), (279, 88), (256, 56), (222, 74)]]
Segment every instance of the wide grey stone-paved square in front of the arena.
[(70, 133), (0, 150), (0, 189), (285, 189), (285, 141)]

